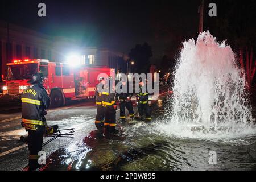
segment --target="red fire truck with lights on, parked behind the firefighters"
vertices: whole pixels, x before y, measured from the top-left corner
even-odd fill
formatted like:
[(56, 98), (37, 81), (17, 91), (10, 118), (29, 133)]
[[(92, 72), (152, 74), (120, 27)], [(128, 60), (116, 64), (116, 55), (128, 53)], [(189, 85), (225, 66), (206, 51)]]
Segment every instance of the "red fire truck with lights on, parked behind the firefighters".
[(68, 63), (55, 63), (44, 59), (14, 60), (7, 64), (2, 100), (20, 100), (21, 93), (30, 85), (27, 81), (36, 72), (43, 73), (45, 77), (43, 85), (53, 107), (60, 107), (67, 100), (94, 98), (98, 76), (114, 75), (114, 69), (108, 67), (72, 67)]

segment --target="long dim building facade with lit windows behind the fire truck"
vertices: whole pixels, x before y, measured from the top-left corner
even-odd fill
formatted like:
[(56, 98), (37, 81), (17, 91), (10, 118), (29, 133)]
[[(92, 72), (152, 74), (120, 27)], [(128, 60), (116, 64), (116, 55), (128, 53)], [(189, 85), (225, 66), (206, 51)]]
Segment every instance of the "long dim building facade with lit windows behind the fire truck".
[[(13, 60), (48, 59), (65, 61), (68, 52), (80, 52), (88, 66), (106, 66), (126, 72), (127, 55), (106, 48), (85, 47), (68, 38), (52, 37), (0, 20), (0, 75), (6, 77), (6, 64)], [(2, 81), (2, 79), (0, 80)]]

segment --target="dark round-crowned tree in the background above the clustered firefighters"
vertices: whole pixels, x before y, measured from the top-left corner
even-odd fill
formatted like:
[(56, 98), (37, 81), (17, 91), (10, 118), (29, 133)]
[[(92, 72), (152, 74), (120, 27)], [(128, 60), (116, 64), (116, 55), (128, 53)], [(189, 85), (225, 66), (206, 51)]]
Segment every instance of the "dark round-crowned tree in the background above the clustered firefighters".
[(152, 49), (148, 43), (137, 44), (129, 52), (131, 60), (135, 61), (135, 71), (137, 73), (148, 73), (150, 67), (150, 57), (152, 57)]

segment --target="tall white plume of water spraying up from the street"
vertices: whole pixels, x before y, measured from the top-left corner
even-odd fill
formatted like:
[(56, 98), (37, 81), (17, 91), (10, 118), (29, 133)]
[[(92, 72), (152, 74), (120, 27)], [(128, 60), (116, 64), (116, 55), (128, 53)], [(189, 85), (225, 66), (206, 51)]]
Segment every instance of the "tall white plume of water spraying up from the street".
[(255, 132), (245, 79), (230, 46), (209, 31), (183, 43), (170, 122), (161, 130), (185, 137), (236, 137)]

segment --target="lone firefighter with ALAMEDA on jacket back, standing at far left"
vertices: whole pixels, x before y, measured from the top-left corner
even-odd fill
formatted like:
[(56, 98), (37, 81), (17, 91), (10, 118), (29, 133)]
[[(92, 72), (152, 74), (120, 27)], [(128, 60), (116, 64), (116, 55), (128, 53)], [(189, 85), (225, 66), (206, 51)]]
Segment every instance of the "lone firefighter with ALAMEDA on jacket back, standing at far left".
[(28, 167), (30, 171), (36, 170), (38, 152), (42, 150), (43, 135), (46, 133), (46, 110), (50, 98), (43, 87), (43, 74), (35, 73), (28, 81), (31, 85), (22, 93), (22, 126), (28, 131), (28, 150), (30, 151)]

